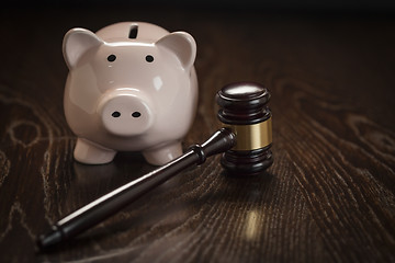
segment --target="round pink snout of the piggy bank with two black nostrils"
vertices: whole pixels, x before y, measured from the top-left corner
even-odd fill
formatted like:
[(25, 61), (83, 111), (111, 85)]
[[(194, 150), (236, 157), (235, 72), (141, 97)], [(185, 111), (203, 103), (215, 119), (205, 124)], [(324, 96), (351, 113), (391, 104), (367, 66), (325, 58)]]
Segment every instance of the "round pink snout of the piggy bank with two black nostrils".
[(143, 134), (154, 123), (150, 100), (129, 92), (105, 95), (99, 105), (99, 114), (104, 128), (117, 136)]

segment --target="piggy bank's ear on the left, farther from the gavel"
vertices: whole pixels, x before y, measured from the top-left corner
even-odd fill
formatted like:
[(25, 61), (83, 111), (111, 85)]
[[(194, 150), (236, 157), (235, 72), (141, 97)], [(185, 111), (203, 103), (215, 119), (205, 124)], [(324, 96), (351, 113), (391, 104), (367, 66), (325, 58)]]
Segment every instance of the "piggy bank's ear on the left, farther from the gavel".
[(80, 57), (90, 48), (98, 47), (104, 42), (94, 33), (83, 28), (72, 28), (66, 33), (63, 53), (69, 69), (76, 67)]

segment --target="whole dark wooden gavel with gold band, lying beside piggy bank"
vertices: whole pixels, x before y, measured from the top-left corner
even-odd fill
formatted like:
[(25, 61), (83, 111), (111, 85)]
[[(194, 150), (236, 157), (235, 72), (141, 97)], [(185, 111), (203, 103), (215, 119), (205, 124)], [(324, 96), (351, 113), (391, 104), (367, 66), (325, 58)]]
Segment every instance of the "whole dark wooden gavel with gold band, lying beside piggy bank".
[(193, 145), (181, 157), (81, 207), (56, 222), (37, 239), (42, 251), (54, 248), (136, 201), (183, 169), (202, 164), (207, 157), (223, 153), (221, 164), (226, 174), (262, 174), (272, 163), (271, 111), (269, 91), (251, 82), (232, 83), (216, 94), (218, 119), (224, 127), (202, 145)]

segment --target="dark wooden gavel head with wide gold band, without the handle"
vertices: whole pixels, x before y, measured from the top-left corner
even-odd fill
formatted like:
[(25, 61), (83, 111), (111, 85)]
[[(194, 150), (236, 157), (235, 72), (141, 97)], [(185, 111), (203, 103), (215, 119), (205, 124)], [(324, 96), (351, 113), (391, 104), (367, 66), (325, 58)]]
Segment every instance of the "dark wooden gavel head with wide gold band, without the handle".
[(236, 135), (236, 145), (221, 164), (230, 175), (256, 175), (273, 163), (269, 91), (252, 82), (232, 83), (218, 91), (218, 119)]

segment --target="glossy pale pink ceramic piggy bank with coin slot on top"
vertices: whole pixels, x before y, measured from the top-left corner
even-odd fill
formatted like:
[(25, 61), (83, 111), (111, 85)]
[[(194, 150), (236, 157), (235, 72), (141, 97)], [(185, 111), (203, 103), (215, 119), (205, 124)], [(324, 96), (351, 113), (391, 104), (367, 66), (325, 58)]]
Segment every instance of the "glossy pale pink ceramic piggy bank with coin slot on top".
[(198, 101), (196, 44), (185, 32), (124, 22), (95, 34), (70, 30), (63, 52), (69, 75), (64, 107), (78, 136), (77, 161), (111, 162), (142, 151), (161, 165), (182, 155)]

